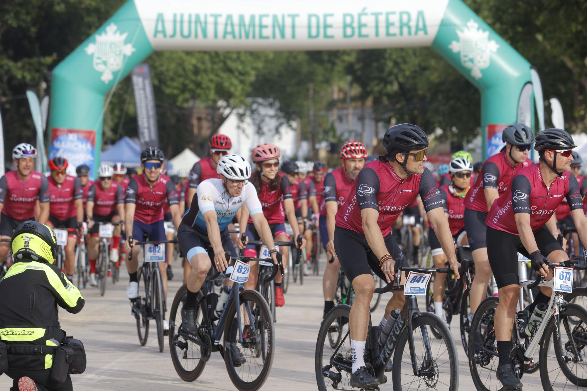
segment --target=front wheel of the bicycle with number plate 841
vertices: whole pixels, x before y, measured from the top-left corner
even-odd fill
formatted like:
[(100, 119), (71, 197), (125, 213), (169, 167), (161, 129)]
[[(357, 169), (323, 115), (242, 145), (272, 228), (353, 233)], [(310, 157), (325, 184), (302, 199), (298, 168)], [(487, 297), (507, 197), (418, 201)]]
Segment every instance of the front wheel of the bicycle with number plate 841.
[[(458, 390), (458, 356), (453, 336), (443, 319), (430, 312), (421, 312), (412, 318), (415, 349), (411, 357), (406, 346), (408, 328), (397, 340), (393, 353), (393, 390), (435, 389)], [(441, 338), (430, 338), (429, 329), (436, 329)], [(411, 363), (429, 375), (416, 376)]]

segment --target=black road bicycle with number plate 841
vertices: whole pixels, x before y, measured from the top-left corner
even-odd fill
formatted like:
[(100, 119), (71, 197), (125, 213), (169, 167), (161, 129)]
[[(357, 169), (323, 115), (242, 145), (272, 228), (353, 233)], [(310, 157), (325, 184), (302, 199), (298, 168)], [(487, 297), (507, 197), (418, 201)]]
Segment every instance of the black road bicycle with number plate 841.
[[(445, 292), (452, 295), (463, 289), (469, 289), (470, 276), (468, 260), (463, 261), (461, 278), (453, 289)], [(376, 288), (377, 293), (386, 293), (403, 289), (406, 302), (394, 321), (392, 331), (383, 345), (379, 345), (379, 326), (372, 326), (369, 319), (367, 329), (365, 363), (370, 374), (378, 377), (380, 384), (387, 382), (384, 370), (393, 355), (392, 387), (394, 391), (407, 389), (458, 389), (458, 357), (453, 336), (446, 323), (431, 312), (420, 312), (417, 296), (426, 295), (427, 284), (432, 273), (452, 273), (448, 268), (409, 268), (399, 267), (398, 276), (407, 273), (403, 286), (399, 278), (383, 288)], [(403, 279), (403, 278), (402, 278)], [(399, 311), (399, 310), (396, 310)], [(316, 342), (315, 371), (318, 389), (349, 390), (352, 370), (349, 333), (350, 306), (335, 306), (322, 322)], [(393, 312), (392, 315), (393, 316)], [(370, 317), (369, 317), (370, 318)], [(331, 348), (326, 338), (330, 326), (345, 329), (343, 338)], [(430, 338), (429, 330), (436, 329), (441, 338)], [(408, 345), (406, 348), (406, 344)], [(379, 386), (369, 390), (380, 390)]]

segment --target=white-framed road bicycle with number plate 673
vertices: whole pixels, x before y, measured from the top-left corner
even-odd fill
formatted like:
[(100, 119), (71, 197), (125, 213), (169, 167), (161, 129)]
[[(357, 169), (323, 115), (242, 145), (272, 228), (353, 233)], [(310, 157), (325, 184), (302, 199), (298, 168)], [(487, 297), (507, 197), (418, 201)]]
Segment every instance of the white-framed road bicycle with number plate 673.
[[(579, 305), (566, 302), (564, 295), (571, 292), (573, 271), (585, 270), (586, 265), (578, 265), (577, 260), (572, 259), (549, 264), (548, 268), (553, 271), (552, 279), (545, 281), (544, 277), (538, 275), (535, 280), (519, 283), (521, 287), (528, 289), (548, 286), (553, 288), (553, 292), (532, 336), (521, 332), (524, 321), (518, 318), (519, 311), (516, 313), (515, 327), (512, 330), (512, 365), (518, 379), (529, 370), (538, 368), (545, 390), (558, 390), (561, 387), (583, 388), (587, 386), (587, 375), (583, 369), (587, 353), (587, 311)], [(494, 315), (498, 302), (497, 296), (481, 302), (471, 323), (471, 330), (475, 332), (471, 333), (468, 356), (471, 376), (477, 390), (502, 389), (501, 383), (495, 378), (498, 353)], [(522, 323), (521, 327), (518, 327), (519, 323)], [(538, 348), (538, 361), (535, 361), (534, 355)]]

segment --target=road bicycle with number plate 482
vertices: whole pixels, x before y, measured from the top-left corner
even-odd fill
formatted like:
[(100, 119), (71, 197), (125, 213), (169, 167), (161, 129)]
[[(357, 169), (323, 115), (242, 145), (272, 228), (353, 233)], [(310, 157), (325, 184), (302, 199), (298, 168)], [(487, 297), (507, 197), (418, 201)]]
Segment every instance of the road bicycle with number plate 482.
[(143, 247), (144, 262), (139, 268), (137, 275), (139, 281), (139, 296), (130, 301), (132, 314), (137, 321), (137, 333), (142, 346), (146, 345), (149, 338), (149, 320), (154, 319), (157, 327), (157, 342), (159, 351), (164, 348), (163, 321), (167, 311), (167, 301), (163, 288), (163, 277), (159, 262), (165, 263), (165, 244), (177, 243), (174, 240), (147, 241), (147, 235), (143, 236), (142, 242), (133, 244), (133, 237), (129, 237), (130, 252), (129, 261), (133, 259), (133, 246)]

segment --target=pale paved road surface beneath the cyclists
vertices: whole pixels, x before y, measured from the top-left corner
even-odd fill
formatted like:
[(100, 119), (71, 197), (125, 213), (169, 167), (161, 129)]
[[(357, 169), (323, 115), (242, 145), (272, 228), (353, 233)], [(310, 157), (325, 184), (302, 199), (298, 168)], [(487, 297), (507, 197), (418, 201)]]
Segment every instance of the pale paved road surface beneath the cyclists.
[[(324, 267), (324, 259), (321, 269)], [(139, 345), (136, 323), (130, 315), (126, 298), (128, 274), (123, 268), (121, 281), (108, 285), (103, 297), (96, 288), (82, 291), (86, 299), (85, 308), (77, 315), (60, 310), (60, 322), (68, 335), (80, 339), (87, 352), (87, 369), (82, 375), (72, 376), (75, 390), (234, 390), (228, 378), (220, 353), (213, 353), (204, 372), (193, 383), (181, 380), (171, 363), (166, 337), (166, 349), (158, 351), (154, 338), (154, 323), (151, 323), (149, 341)], [(181, 265), (174, 264), (176, 278), (169, 284), (168, 308), (173, 296), (181, 286)], [(109, 281), (110, 283), (110, 281)], [(316, 390), (314, 374), (314, 350), (318, 328), (322, 320), (322, 273), (320, 277), (309, 276), (303, 286), (290, 284), (285, 295), (286, 304), (277, 310), (276, 356), (269, 379), (263, 389), (283, 391)], [(383, 316), (382, 304), (373, 314), (373, 322)], [(420, 305), (423, 308), (423, 305)], [(460, 359), (460, 389), (474, 390), (467, 358), (460, 345), (458, 319), (451, 327), (457, 343)], [(0, 389), (11, 386), (8, 376), (0, 376)], [(524, 376), (525, 389), (538, 386), (538, 374)], [(391, 381), (382, 390), (391, 390)]]

